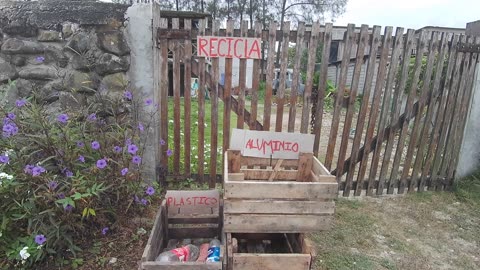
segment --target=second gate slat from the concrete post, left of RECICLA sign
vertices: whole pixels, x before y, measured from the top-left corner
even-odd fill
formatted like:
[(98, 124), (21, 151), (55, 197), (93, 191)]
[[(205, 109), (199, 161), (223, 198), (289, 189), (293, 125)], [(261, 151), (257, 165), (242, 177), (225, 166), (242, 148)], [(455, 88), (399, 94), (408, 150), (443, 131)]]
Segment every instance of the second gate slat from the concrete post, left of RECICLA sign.
[[(178, 18), (172, 19), (172, 28), (178, 29)], [(171, 40), (173, 44), (173, 174), (180, 174), (180, 57), (182, 49), (178, 40)]]

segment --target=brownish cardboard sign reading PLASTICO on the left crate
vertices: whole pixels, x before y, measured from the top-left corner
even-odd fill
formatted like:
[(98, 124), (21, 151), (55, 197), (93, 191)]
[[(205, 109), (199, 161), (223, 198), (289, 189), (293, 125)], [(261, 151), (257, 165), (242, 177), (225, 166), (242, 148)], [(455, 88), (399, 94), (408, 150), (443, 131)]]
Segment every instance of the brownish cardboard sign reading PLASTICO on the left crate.
[(168, 190), (165, 194), (168, 215), (218, 214), (218, 190)]

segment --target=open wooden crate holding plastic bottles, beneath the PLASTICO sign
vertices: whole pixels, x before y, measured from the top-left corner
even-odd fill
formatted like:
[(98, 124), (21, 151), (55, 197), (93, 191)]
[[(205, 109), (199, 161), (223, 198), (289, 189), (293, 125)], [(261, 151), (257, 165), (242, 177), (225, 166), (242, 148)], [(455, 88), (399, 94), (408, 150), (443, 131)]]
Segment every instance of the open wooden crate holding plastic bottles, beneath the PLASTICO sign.
[[(193, 192), (193, 191), (190, 191)], [(202, 191), (200, 191), (201, 193)], [(197, 192), (198, 193), (198, 192)], [(167, 193), (168, 196), (168, 193)], [(201, 195), (198, 198), (202, 197)], [(218, 199), (218, 192), (217, 192)], [(215, 207), (195, 207), (190, 209), (167, 203), (162, 205), (155, 218), (153, 229), (143, 251), (140, 269), (142, 270), (221, 270), (223, 269), (224, 245), (221, 246), (220, 262), (156, 262), (155, 258), (164, 251), (170, 239), (213, 239), (217, 237), (222, 243), (222, 216), (220, 200)], [(210, 210), (209, 210), (210, 209)]]

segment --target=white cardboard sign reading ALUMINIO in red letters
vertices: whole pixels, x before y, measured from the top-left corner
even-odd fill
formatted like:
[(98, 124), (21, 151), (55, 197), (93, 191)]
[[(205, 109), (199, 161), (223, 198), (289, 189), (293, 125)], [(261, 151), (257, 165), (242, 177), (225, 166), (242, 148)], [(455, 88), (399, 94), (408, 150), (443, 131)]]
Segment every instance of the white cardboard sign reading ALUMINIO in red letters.
[(243, 156), (298, 159), (299, 153), (313, 151), (313, 134), (233, 129), (230, 149)]

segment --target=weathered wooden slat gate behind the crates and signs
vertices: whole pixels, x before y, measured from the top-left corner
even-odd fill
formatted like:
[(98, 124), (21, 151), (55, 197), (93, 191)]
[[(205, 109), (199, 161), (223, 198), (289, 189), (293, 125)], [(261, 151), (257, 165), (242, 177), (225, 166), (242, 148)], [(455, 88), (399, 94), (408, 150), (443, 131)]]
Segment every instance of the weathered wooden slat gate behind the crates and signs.
[[(229, 21), (226, 29), (220, 29), (218, 22), (209, 23), (208, 18), (161, 18), (159, 14), (154, 9), (154, 91), (160, 105), (160, 137), (170, 136), (165, 145), (159, 145), (161, 173), (168, 168), (168, 175), (209, 179), (214, 186), (222, 173), (221, 156), (229, 145), (230, 130), (237, 127), (314, 133), (314, 153), (336, 175), (344, 196), (426, 187), (442, 190), (452, 185), (478, 60), (476, 39), (435, 31), (405, 32), (400, 27), (394, 35), (392, 27), (385, 27), (382, 34), (379, 26), (350, 24), (338, 46), (340, 75), (332, 94), (327, 59), (338, 29), (331, 24), (299, 23), (290, 30), (289, 22), (281, 28), (271, 23), (268, 29), (260, 23), (249, 29), (248, 22), (242, 22), (240, 29), (234, 29)], [(234, 87), (235, 61), (225, 59), (223, 71), (218, 58), (197, 57), (197, 35), (261, 38), (265, 60), (263, 64), (262, 60), (239, 60), (238, 86)], [(277, 42), (281, 58), (274, 95)], [(289, 62), (289, 47), (297, 56), (308, 55), (303, 92), (299, 91), (302, 57)], [(322, 48), (324, 60), (319, 65), (317, 47)], [(168, 96), (169, 66), (173, 97)], [(293, 80), (287, 89), (289, 66)], [(199, 85), (195, 98), (192, 76)], [(251, 87), (246, 85), (248, 76)], [(233, 88), (238, 89), (235, 95)], [(316, 97), (313, 112), (312, 93)], [(336, 98), (328, 110), (325, 104), (332, 96)], [(173, 149), (170, 166), (169, 148)]]

